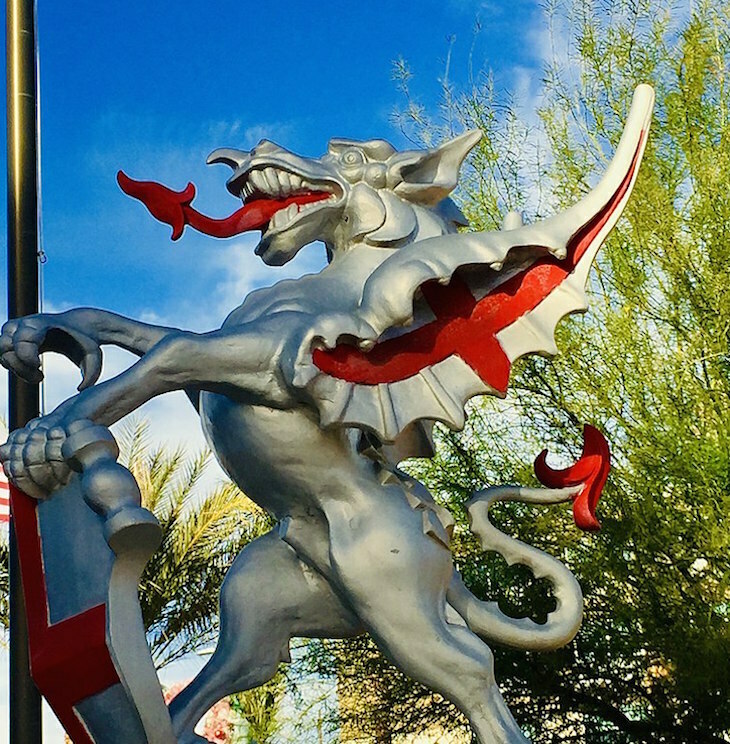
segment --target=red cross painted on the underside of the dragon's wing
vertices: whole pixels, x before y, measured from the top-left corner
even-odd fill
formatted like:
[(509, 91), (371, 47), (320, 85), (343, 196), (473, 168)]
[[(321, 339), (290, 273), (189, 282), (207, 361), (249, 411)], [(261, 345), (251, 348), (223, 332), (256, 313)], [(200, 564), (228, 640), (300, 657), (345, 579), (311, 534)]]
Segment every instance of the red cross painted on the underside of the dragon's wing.
[(315, 349), (314, 364), (332, 377), (377, 385), (404, 380), (457, 355), (485, 383), (506, 392), (510, 362), (496, 338), (497, 333), (534, 309), (575, 269), (625, 196), (638, 164), (643, 138), (642, 132), (633, 162), (611, 199), (568, 241), (565, 259), (542, 258), (478, 302), (458, 275), (447, 286), (428, 282), (421, 291), (436, 316), (431, 323), (382, 341), (367, 352), (349, 344)]

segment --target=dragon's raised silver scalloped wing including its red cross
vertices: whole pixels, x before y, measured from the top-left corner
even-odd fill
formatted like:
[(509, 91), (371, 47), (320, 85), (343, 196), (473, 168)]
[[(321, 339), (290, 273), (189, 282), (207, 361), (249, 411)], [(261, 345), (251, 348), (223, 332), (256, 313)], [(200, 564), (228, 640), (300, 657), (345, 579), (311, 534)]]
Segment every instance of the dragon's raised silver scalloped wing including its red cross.
[[(320, 319), (292, 377), (322, 424), (370, 430), (386, 444), (416, 422), (461, 429), (469, 398), (506, 394), (516, 359), (557, 353), (560, 319), (587, 309), (588, 271), (636, 181), (653, 103), (651, 87), (639, 86), (613, 160), (573, 207), (405, 246), (370, 275), (351, 317)], [(408, 447), (402, 454), (419, 449)]]

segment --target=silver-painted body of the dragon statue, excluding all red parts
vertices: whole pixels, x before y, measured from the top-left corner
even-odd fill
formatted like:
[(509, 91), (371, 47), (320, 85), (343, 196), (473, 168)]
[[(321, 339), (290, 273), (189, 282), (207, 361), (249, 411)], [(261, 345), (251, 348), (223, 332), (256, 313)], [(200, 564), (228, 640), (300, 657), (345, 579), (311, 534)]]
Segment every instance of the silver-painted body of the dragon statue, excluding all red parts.
[[(652, 104), (651, 89), (641, 86), (614, 161), (584, 200), (535, 225), (508, 215), (505, 229), (492, 233), (456, 234), (463, 216), (448, 198), (477, 132), (403, 153), (382, 140), (332, 140), (319, 159), (266, 140), (250, 152), (218, 150), (210, 161), (233, 169), (228, 187), (244, 201), (300, 189), (329, 194), (274, 214), (256, 249), (266, 263), (278, 265), (322, 240), (331, 258), (325, 269), (252, 292), (222, 328), (207, 334), (90, 309), (5, 326), (0, 358), (21, 375), (37, 373), (38, 353), (48, 348), (47, 339), (58, 339), (58, 331), (76, 339), (73, 348), (83, 340), (76, 358), (90, 380), (102, 344), (140, 357), (117, 377), (88, 385), (33, 428), (11, 434), (0, 457), (27, 493), (46, 499), (68, 477), (64, 441), (74, 422), (107, 426), (157, 395), (183, 389), (198, 402), (223, 468), (279, 520), (241, 553), (226, 577), (216, 651), (170, 706), (180, 744), (202, 741), (193, 728), (219, 698), (267, 681), (288, 658), (292, 637), (363, 631), (407, 674), (453, 701), (482, 744), (526, 741), (499, 693), (482, 637), (555, 648), (577, 632), (582, 600), (562, 564), (497, 532), (484, 509), (495, 496), (553, 503), (573, 491), (493, 492), (472, 507), (486, 547), (531, 565), (555, 587), (558, 608), (545, 629), (507, 617), (468, 594), (449, 551), (453, 521), (396, 467), (402, 457), (429, 452), (433, 421), (463, 426), (465, 402), (496, 389), (455, 354), (379, 384), (325, 374), (313, 355), (343, 341), (367, 352), (404, 328), (428, 323), (433, 313), (420, 301), (419, 288), (428, 281), (448, 283), (457, 269), (480, 268), (469, 289), (484, 297), (540, 258), (565, 256), (576, 232), (604, 210), (586, 255), (559, 285), (566, 288), (500, 331), (510, 361), (553, 352), (555, 325), (583, 306), (590, 263), (628, 199)], [(87, 500), (104, 504), (104, 494), (100, 487)], [(121, 545), (118, 555), (130, 547)]]

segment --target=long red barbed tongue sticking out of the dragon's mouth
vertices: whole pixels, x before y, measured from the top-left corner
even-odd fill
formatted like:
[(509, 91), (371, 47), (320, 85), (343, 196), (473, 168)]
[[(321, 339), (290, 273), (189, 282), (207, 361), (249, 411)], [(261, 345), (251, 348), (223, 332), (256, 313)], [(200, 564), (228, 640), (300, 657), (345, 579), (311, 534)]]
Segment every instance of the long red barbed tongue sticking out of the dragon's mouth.
[(195, 198), (195, 186), (189, 183), (182, 191), (173, 191), (154, 181), (135, 181), (123, 171), (117, 173), (117, 183), (125, 194), (139, 199), (150, 214), (172, 227), (172, 239), (177, 240), (185, 225), (215, 238), (230, 238), (248, 230), (262, 230), (280, 209), (290, 204), (309, 204), (327, 199), (330, 194), (310, 192), (288, 196), (286, 199), (256, 199), (244, 204), (223, 219), (206, 217), (190, 203)]

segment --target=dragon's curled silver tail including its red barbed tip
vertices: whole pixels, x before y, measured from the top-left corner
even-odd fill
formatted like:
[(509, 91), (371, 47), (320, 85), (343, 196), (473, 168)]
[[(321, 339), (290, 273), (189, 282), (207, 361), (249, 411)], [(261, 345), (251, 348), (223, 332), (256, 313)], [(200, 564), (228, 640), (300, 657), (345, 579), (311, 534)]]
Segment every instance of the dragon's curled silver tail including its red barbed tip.
[(467, 505), (471, 526), (484, 550), (495, 550), (508, 564), (524, 563), (537, 578), (553, 585), (556, 608), (544, 624), (529, 618), (505, 615), (496, 602), (483, 602), (464, 585), (458, 573), (447, 593), (449, 604), (464, 618), (474, 633), (486, 640), (531, 651), (549, 651), (569, 643), (583, 619), (583, 593), (575, 576), (556, 558), (516, 540), (489, 521), (489, 508), (497, 501), (530, 504), (559, 504), (573, 501), (576, 522), (583, 529), (596, 529), (594, 509), (608, 477), (609, 451), (603, 435), (592, 426), (584, 429), (583, 456), (562, 471), (545, 464), (545, 452), (537, 458), (535, 469), (540, 480), (561, 488), (522, 488), (495, 486), (478, 492)]

